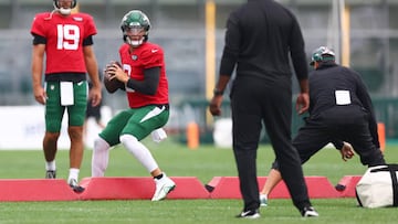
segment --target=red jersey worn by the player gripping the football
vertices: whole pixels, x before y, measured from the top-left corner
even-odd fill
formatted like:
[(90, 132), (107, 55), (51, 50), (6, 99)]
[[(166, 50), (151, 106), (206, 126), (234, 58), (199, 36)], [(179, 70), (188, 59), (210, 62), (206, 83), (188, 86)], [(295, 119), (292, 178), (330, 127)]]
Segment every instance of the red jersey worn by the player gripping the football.
[(163, 49), (154, 43), (145, 42), (130, 53), (129, 45), (123, 44), (119, 54), (123, 70), (130, 78), (136, 81), (144, 79), (144, 70), (160, 67), (159, 86), (155, 95), (145, 95), (126, 88), (129, 107), (137, 108), (147, 105), (168, 104), (168, 82)]

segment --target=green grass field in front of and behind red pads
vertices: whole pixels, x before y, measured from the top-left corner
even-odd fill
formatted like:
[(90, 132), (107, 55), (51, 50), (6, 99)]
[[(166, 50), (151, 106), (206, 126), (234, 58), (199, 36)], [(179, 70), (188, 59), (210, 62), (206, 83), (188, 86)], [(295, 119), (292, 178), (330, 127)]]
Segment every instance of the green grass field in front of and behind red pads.
[[(208, 183), (213, 177), (237, 175), (232, 151), (212, 146), (189, 150), (186, 146), (167, 140), (159, 145), (145, 141), (170, 177), (198, 177)], [(91, 150), (85, 151), (80, 178), (90, 177)], [(67, 150), (57, 153), (57, 178), (67, 178)], [(388, 145), (386, 159), (398, 161), (398, 146)], [(261, 146), (258, 154), (259, 175), (266, 175), (274, 159), (270, 146)], [(366, 170), (358, 157), (343, 162), (334, 149), (324, 149), (303, 166), (305, 175), (324, 175), (335, 184), (344, 175), (363, 174)], [(111, 151), (107, 177), (148, 177), (145, 169), (123, 148)], [(2, 179), (38, 179), (44, 177), (41, 150), (1, 150)], [(274, 199), (261, 209), (255, 221), (233, 216), (242, 209), (241, 200), (147, 200), (74, 201), (74, 202), (2, 202), (0, 223), (396, 223), (397, 209), (360, 209), (355, 199), (312, 200), (320, 212), (317, 218), (302, 218), (291, 200)]]

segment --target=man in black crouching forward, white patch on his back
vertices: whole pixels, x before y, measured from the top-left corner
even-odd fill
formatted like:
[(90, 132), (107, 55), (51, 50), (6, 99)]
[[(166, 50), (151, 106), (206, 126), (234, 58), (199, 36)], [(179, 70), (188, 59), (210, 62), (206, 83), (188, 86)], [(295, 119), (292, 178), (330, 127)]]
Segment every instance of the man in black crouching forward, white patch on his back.
[[(335, 140), (341, 139), (353, 145), (364, 166), (385, 164), (371, 99), (359, 74), (337, 65), (335, 53), (326, 46), (314, 51), (311, 65), (315, 71), (310, 74), (310, 117), (293, 139), (302, 163), (328, 142), (342, 149), (343, 160), (350, 159), (352, 148)], [(277, 167), (275, 160), (261, 191), (262, 205), (282, 180)]]

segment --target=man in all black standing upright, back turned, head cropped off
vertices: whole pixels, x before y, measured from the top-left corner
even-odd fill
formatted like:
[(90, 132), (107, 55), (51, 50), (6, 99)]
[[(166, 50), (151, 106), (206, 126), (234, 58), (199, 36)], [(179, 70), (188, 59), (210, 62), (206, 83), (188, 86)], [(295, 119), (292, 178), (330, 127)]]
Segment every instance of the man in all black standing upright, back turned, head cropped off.
[(213, 116), (221, 114), (222, 94), (237, 65), (230, 98), (233, 152), (244, 202), (238, 217), (260, 217), (255, 159), (262, 122), (294, 205), (303, 216), (318, 216), (310, 202), (300, 157), (292, 145), (289, 57), (300, 83), (296, 109), (302, 114), (310, 105), (308, 71), (303, 35), (294, 14), (272, 0), (248, 0), (230, 14), (220, 76), (209, 106)]

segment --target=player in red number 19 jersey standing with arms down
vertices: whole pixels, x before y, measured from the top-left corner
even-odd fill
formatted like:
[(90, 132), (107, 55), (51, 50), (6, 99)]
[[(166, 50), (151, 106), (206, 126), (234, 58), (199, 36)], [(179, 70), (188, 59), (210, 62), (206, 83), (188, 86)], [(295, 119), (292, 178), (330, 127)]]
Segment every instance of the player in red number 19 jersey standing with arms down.
[[(87, 97), (96, 106), (101, 102), (98, 65), (93, 51), (96, 28), (93, 18), (73, 13), (76, 0), (54, 0), (52, 12), (35, 15), (31, 34), (32, 83), (36, 102), (45, 105), (45, 135), (43, 151), (48, 179), (55, 179), (55, 154), (63, 114), (69, 116), (67, 134), (71, 139), (70, 172), (67, 183), (75, 192), (83, 192), (77, 184), (83, 159), (83, 122)], [(45, 55), (44, 81), (42, 85)], [(87, 96), (86, 73), (93, 83)]]

